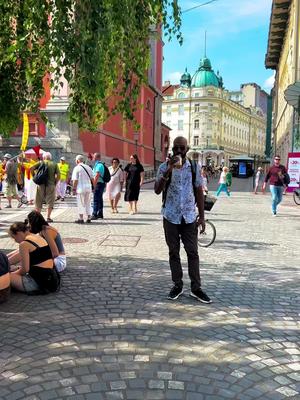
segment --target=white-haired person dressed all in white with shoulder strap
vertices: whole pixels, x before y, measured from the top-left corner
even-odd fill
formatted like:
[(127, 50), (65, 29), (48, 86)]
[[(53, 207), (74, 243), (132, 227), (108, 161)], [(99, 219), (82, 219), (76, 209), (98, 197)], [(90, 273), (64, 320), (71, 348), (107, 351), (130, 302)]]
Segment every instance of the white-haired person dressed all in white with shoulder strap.
[(87, 223), (92, 220), (92, 192), (93, 192), (93, 170), (84, 164), (84, 157), (81, 154), (76, 156), (76, 167), (72, 172), (73, 192), (76, 194), (79, 219), (76, 224), (84, 223), (86, 215)]

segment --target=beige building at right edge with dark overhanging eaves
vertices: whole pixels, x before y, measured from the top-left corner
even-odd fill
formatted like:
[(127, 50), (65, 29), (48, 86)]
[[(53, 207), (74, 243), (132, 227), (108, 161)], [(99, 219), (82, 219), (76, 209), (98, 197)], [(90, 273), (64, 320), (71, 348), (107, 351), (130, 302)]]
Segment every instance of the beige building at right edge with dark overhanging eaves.
[[(288, 86), (300, 81), (300, 2), (273, 0), (265, 65), (276, 71), (273, 94), (273, 153), (286, 163), (300, 151), (298, 113), (285, 100)], [(299, 93), (300, 96), (300, 93)]]

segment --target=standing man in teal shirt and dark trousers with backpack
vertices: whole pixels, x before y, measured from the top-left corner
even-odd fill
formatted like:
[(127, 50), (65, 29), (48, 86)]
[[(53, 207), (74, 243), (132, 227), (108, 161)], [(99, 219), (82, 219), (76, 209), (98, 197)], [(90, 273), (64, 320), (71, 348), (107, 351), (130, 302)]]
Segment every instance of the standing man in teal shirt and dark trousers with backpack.
[(100, 161), (100, 153), (95, 153), (93, 156), (95, 161), (93, 174), (94, 174), (94, 204), (93, 204), (93, 216), (92, 220), (103, 219), (103, 192), (105, 189), (105, 183), (102, 179), (104, 176), (104, 165)]

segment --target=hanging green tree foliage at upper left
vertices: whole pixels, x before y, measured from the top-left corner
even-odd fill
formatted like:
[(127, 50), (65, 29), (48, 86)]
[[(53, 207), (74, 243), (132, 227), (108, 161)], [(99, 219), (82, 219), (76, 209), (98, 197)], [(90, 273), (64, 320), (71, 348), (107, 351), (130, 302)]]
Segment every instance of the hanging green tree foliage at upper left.
[(162, 27), (181, 42), (180, 25), (177, 0), (0, 0), (0, 133), (38, 110), (45, 76), (56, 90), (67, 80), (81, 128), (117, 112), (134, 120), (149, 39)]

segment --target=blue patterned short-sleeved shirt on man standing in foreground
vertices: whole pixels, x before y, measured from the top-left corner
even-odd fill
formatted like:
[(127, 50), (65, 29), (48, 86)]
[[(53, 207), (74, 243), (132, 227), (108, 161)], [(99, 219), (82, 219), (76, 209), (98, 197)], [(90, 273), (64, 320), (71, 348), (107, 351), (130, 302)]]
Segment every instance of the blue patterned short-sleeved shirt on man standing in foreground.
[[(157, 171), (156, 180), (159, 181), (166, 173), (168, 165), (161, 164)], [(199, 168), (196, 168), (195, 186), (202, 186), (202, 177)], [(165, 207), (162, 207), (162, 215), (172, 224), (181, 224), (182, 217), (187, 224), (191, 224), (197, 218), (195, 196), (192, 180), (192, 166), (189, 160), (185, 160), (182, 168), (174, 168), (172, 178), (167, 190)]]

